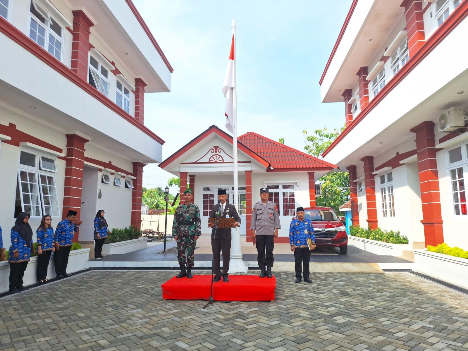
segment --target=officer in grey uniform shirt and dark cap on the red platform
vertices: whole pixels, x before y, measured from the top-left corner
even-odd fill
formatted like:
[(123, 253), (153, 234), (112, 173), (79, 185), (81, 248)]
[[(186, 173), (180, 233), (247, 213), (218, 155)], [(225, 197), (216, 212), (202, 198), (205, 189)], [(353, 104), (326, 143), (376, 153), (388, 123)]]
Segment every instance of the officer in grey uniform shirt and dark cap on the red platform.
[[(273, 266), (273, 238), (278, 236), (279, 223), (278, 208), (268, 201), (268, 189), (260, 189), (261, 201), (257, 202), (252, 209), (252, 239), (256, 241), (258, 266), (262, 270), (260, 278), (271, 278), (271, 267)], [(265, 267), (266, 266), (266, 267)]]

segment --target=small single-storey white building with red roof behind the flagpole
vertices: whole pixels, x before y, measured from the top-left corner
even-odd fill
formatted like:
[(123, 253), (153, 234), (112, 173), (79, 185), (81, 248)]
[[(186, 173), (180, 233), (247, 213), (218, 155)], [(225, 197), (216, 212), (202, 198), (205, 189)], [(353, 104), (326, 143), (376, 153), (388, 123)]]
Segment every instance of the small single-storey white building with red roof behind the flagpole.
[[(247, 241), (252, 241), (252, 205), (260, 201), (260, 188), (267, 187), (281, 221), (275, 242), (289, 242), (296, 207), (315, 206), (315, 179), (336, 166), (254, 132), (238, 137), (237, 145), (241, 235), (247, 234)], [(190, 184), (193, 202), (200, 207), (202, 233), (211, 233), (208, 217), (218, 203), (218, 189), (226, 189), (228, 201), (234, 203), (232, 136), (212, 125), (159, 167), (180, 176), (181, 193)]]

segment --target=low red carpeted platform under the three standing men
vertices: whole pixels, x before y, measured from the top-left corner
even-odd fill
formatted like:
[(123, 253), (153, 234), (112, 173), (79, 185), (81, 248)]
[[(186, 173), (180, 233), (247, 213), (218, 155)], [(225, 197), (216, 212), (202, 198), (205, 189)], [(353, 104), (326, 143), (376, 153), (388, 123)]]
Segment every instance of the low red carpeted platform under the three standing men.
[[(211, 292), (211, 275), (194, 275), (193, 278), (176, 277), (161, 285), (162, 298), (167, 300), (208, 300)], [(216, 301), (273, 301), (276, 278), (230, 275), (229, 282), (222, 279), (213, 283)]]

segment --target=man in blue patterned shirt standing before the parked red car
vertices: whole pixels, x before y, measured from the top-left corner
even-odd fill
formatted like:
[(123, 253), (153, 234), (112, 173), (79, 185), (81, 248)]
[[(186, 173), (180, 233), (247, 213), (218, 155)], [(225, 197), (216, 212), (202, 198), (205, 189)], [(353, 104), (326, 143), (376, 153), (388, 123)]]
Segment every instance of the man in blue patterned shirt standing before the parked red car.
[[(312, 283), (309, 279), (309, 262), (310, 250), (315, 249), (315, 235), (314, 227), (310, 219), (304, 219), (304, 208), (298, 207), (296, 209), (297, 218), (292, 219), (291, 226), (289, 227), (289, 243), (291, 244), (291, 251), (294, 252), (294, 259), (296, 261), (296, 283), (301, 282), (302, 264), (304, 265), (304, 281)], [(312, 246), (309, 249), (307, 239), (312, 241)], [(301, 264), (302, 263), (302, 264)]]

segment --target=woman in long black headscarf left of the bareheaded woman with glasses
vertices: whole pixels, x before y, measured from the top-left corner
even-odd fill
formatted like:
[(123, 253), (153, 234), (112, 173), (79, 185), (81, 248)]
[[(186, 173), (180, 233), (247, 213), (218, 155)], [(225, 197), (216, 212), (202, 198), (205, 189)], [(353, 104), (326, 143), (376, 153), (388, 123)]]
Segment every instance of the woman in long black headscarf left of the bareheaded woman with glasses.
[(31, 254), (34, 252), (32, 229), (28, 222), (29, 213), (21, 212), (16, 218), (15, 225), (11, 228), (11, 246), (8, 251), (8, 263), (10, 263), (9, 292), (11, 293), (28, 290), (23, 286), (23, 276)]

